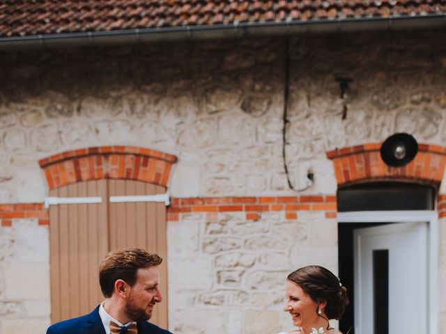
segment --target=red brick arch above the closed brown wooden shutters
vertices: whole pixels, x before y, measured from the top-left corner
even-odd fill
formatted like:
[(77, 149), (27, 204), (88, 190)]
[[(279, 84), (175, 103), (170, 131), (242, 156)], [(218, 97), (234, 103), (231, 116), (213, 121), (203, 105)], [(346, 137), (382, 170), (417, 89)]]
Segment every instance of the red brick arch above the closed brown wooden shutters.
[(55, 154), (39, 161), (49, 189), (81, 181), (138, 180), (167, 186), (174, 155), (132, 146), (102, 146)]

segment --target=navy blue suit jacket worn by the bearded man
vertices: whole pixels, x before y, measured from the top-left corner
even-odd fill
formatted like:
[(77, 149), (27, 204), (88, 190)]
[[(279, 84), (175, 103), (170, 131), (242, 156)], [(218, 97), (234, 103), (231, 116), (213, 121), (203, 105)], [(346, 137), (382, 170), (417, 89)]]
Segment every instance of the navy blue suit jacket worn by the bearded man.
[[(138, 334), (172, 334), (147, 321), (137, 323)], [(47, 334), (105, 334), (99, 316), (99, 306), (89, 315), (58, 322), (47, 329)]]

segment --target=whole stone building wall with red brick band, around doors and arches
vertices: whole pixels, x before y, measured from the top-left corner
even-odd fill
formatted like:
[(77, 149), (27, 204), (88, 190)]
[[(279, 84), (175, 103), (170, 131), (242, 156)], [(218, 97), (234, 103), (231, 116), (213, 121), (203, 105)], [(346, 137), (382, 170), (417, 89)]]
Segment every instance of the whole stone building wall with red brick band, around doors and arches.
[[(435, 31), (290, 39), (285, 150), (298, 191), (282, 152), (284, 38), (0, 54), (0, 334), (42, 333), (50, 322), (49, 185), (39, 161), (114, 146), (178, 157), (167, 183), (170, 330), (290, 329), (287, 273), (313, 263), (337, 272), (339, 177), (328, 152), (396, 132), (440, 152), (445, 42)], [(353, 78), (342, 98), (337, 77)]]

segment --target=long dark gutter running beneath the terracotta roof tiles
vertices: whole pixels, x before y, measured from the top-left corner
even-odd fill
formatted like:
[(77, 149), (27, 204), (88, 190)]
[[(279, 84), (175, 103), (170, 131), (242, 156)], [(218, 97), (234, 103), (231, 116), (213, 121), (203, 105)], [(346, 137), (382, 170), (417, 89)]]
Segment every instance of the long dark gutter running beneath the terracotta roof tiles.
[(298, 35), (305, 33), (349, 33), (446, 27), (446, 13), (424, 16), (315, 19), (289, 22), (236, 22), (208, 26), (181, 26), (112, 31), (55, 33), (0, 38), (0, 51), (59, 47), (174, 42), (210, 38), (242, 38), (249, 35)]

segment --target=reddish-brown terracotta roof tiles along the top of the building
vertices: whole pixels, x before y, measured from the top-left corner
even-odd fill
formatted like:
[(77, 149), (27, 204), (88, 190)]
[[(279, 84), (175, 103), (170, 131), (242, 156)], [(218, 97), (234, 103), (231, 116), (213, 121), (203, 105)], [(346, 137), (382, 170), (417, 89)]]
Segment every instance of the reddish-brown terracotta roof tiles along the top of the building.
[(445, 0), (3, 0), (0, 37), (443, 13)]

